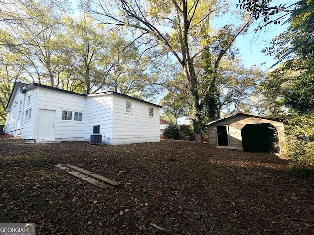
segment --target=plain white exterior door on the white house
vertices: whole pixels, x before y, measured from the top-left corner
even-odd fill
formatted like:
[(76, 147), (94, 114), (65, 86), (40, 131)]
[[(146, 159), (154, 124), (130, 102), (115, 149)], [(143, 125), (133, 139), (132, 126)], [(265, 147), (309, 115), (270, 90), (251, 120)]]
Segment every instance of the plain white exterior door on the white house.
[(36, 141), (55, 141), (55, 110), (40, 109)]

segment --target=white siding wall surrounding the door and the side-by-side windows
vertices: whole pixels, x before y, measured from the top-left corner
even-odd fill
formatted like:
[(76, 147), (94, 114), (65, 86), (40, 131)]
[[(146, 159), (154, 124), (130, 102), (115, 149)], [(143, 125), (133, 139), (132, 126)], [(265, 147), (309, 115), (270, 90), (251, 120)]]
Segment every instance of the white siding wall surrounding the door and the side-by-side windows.
[[(34, 139), (37, 139), (39, 110), (56, 111), (55, 141), (83, 141), (86, 98), (75, 94), (37, 87), (37, 108), (35, 114)], [(62, 120), (62, 110), (83, 113), (82, 121)], [(72, 113), (74, 115), (74, 113)]]

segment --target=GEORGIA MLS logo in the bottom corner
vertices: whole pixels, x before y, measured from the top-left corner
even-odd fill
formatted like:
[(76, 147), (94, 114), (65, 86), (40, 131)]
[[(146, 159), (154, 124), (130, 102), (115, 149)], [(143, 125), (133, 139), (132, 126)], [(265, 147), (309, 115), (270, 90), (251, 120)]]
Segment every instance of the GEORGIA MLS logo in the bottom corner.
[(35, 235), (35, 224), (0, 224), (0, 235)]

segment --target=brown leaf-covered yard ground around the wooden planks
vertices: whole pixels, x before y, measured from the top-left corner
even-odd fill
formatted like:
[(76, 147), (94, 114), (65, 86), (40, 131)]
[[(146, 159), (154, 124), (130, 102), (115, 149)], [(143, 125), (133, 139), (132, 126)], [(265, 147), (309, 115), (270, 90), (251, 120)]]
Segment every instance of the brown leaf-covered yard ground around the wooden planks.
[[(55, 164), (121, 182), (101, 189)], [(310, 174), (309, 174), (310, 173)], [(314, 178), (266, 153), (0, 137), (0, 222), (40, 235), (313, 235)]]

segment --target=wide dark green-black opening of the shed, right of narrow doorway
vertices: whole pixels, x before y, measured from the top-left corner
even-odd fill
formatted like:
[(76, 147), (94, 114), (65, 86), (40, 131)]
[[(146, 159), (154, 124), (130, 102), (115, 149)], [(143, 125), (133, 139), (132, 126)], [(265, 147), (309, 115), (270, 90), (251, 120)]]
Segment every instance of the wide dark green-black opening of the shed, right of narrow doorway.
[(248, 124), (241, 130), (243, 150), (272, 151), (274, 126), (268, 123)]

